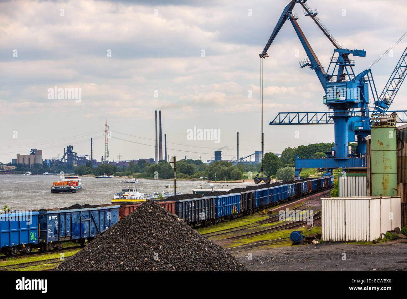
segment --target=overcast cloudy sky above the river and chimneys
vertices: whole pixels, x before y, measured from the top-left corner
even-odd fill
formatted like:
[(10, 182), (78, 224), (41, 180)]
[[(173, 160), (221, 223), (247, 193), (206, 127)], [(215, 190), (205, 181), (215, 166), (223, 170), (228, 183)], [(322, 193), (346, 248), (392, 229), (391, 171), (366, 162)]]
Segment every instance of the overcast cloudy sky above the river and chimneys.
[[(153, 158), (155, 110), (162, 110), (168, 154), (177, 159), (201, 156), (205, 161), (219, 148), (223, 159), (236, 157), (236, 132), (241, 156), (260, 151), (258, 54), (288, 2), (1, 2), (0, 162), (11, 162), (16, 153), (28, 154), (30, 148), (43, 150), (43, 158), (50, 159), (63, 155), (68, 144), (78, 155), (90, 155), (90, 137), (93, 157), (100, 160), (106, 119), (112, 132), (111, 160), (119, 154), (122, 160)], [(319, 18), (344, 48), (367, 51), (365, 58), (350, 57), (356, 59), (356, 73), (407, 31), (403, 0), (307, 3), (318, 9)], [(298, 23), (327, 69), (333, 46), (297, 5)], [(406, 46), (404, 39), (394, 47), (393, 57), (385, 55), (372, 68), (378, 93)], [(306, 54), (290, 22), (268, 54), (265, 152), (333, 142), (333, 125), (268, 124), (278, 112), (327, 111), (315, 72), (299, 67)], [(48, 89), (55, 85), (80, 89), (80, 103), (50, 99)], [(406, 98), (403, 86), (391, 109), (407, 109)], [(187, 130), (194, 126), (219, 129), (219, 143), (188, 140)]]

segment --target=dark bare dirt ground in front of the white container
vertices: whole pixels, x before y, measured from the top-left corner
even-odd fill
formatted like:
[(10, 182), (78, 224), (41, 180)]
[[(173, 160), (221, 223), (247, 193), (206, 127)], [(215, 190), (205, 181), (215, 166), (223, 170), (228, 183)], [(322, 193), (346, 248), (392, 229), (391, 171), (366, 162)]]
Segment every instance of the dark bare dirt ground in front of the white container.
[[(274, 246), (233, 255), (251, 271), (406, 271), (406, 252), (407, 239), (402, 239), (378, 244)], [(252, 260), (248, 260), (248, 253), (252, 253)]]

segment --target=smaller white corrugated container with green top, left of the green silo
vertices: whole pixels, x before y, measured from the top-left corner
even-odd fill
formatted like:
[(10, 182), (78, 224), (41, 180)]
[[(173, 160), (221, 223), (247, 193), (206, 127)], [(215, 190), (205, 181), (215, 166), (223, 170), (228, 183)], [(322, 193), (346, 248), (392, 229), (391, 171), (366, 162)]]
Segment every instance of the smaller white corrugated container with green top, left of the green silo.
[(338, 196), (367, 196), (365, 173), (338, 173)]

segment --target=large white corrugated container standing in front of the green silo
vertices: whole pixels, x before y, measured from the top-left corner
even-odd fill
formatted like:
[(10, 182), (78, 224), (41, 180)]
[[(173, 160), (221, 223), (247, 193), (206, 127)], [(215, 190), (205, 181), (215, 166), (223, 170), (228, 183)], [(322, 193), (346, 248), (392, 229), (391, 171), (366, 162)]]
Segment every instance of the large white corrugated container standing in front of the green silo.
[(400, 197), (330, 197), (321, 199), (324, 241), (373, 241), (401, 228)]

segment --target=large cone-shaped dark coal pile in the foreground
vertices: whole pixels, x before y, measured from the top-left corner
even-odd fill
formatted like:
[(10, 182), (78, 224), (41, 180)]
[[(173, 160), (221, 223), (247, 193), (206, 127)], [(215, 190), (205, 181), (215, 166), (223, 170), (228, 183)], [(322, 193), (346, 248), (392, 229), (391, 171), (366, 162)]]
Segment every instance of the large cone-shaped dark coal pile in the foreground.
[(230, 253), (146, 201), (54, 271), (246, 271)]

